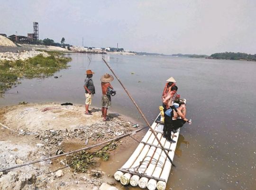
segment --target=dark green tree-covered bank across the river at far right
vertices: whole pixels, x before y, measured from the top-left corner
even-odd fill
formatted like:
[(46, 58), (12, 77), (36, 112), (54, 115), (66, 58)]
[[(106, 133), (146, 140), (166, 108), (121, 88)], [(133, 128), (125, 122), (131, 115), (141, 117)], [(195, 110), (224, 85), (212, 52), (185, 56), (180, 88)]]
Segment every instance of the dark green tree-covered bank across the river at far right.
[(211, 54), (207, 59), (217, 59), (217, 60), (252, 60), (256, 61), (256, 54), (247, 54), (240, 52), (223, 52)]

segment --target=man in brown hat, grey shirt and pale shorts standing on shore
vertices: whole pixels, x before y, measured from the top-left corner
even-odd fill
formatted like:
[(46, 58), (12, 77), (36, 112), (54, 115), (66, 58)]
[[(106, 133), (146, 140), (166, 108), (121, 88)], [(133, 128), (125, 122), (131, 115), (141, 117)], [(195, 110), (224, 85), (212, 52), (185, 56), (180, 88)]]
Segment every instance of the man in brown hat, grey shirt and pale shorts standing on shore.
[(87, 77), (84, 80), (84, 90), (85, 90), (85, 114), (86, 115), (92, 115), (91, 111), (89, 111), (89, 105), (91, 105), (91, 99), (92, 96), (95, 94), (95, 87), (93, 85), (92, 81), (92, 75), (94, 72), (92, 72), (90, 69), (86, 70)]

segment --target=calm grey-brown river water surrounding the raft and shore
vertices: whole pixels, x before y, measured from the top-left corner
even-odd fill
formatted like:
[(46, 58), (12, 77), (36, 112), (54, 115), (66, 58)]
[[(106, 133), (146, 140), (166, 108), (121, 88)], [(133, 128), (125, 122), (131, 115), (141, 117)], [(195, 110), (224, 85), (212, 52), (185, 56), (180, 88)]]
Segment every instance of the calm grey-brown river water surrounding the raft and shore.
[[(92, 106), (101, 107), (100, 78), (110, 73), (103, 57), (152, 123), (162, 104), (165, 80), (174, 77), (178, 94), (187, 99), (187, 118), (192, 118), (192, 125), (185, 124), (181, 129), (174, 156), (177, 167), (172, 168), (167, 189), (255, 189), (256, 62), (97, 54), (69, 56), (73, 58), (71, 67), (55, 73), (58, 78), (23, 79), (0, 98), (0, 106), (23, 101), (84, 104), (85, 70), (91, 69), (95, 72), (96, 87)], [(112, 98), (110, 111), (141, 121), (118, 81), (115, 79), (111, 84), (117, 95)], [(136, 148), (136, 143), (131, 144), (126, 154), (117, 153), (110, 160), (110, 174)]]

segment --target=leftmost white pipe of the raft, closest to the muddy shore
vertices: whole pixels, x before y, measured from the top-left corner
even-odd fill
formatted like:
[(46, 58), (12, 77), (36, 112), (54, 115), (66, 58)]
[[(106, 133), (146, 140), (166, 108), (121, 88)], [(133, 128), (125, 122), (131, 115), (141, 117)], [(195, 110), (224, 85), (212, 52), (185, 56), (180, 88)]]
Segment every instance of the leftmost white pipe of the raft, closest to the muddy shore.
[[(155, 129), (157, 123), (154, 123), (152, 125), (152, 129)], [(151, 130), (148, 130), (146, 132), (146, 135), (144, 136), (144, 138), (141, 140), (141, 142), (147, 142), (148, 139), (152, 136), (152, 131)], [(140, 152), (142, 151), (143, 147), (145, 145), (143, 143), (140, 143), (136, 150), (133, 152), (133, 154), (130, 156), (130, 158), (127, 160), (127, 162), (121, 167), (123, 169), (127, 169), (129, 168), (134, 162), (135, 160), (137, 159), (138, 155), (140, 154)], [(121, 179), (121, 176), (123, 175), (124, 173), (121, 172), (121, 171), (117, 171), (115, 174), (114, 174), (114, 178), (119, 181)]]

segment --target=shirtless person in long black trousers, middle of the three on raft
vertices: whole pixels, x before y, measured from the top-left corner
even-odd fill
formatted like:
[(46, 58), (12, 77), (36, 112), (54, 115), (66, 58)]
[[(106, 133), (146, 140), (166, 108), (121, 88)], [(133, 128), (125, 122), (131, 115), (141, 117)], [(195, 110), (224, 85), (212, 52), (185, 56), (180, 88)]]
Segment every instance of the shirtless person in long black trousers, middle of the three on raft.
[[(168, 109), (170, 111), (174, 108), (174, 100), (175, 100), (175, 94), (177, 93), (178, 87), (177, 86), (172, 86), (171, 90), (164, 96), (164, 112), (165, 112), (165, 125), (164, 125), (164, 138), (167, 138), (167, 140), (171, 143), (175, 143), (171, 138), (171, 131), (173, 129), (173, 112), (168, 112)], [(175, 108), (176, 109), (176, 108)], [(167, 111), (167, 112), (166, 112)], [(167, 114), (166, 114), (167, 113)], [(168, 115), (169, 114), (169, 115)]]

